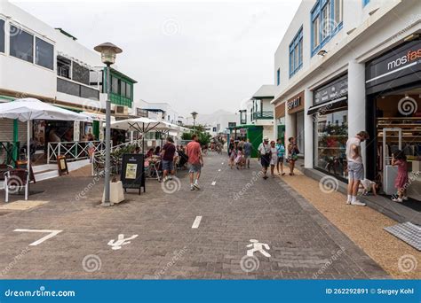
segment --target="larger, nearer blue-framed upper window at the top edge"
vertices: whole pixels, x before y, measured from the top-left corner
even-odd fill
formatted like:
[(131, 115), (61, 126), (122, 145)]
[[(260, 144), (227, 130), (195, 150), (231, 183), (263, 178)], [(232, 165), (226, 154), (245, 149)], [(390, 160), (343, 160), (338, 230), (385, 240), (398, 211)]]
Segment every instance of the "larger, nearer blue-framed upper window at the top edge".
[[(326, 8), (326, 5), (329, 4), (329, 16), (328, 16), (328, 26), (329, 26), (329, 35), (322, 35), (323, 33), (323, 12), (324, 9)], [(336, 5), (340, 5), (340, 9), (339, 9), (339, 23), (336, 24), (336, 20), (337, 20), (337, 15), (335, 14), (335, 7)], [(314, 4), (312, 10), (310, 11), (310, 24), (311, 24), (311, 48), (310, 48), (310, 52), (311, 52), (311, 57), (313, 57), (318, 51), (320, 51), (322, 49), (322, 47), (330, 42), (330, 39), (332, 39), (335, 35), (338, 34), (338, 32), (342, 29), (343, 27), (343, 18), (344, 18), (344, 14), (343, 14), (343, 10), (344, 10), (344, 0), (318, 0), (316, 2), (316, 4)], [(314, 32), (314, 21), (318, 19), (318, 30), (316, 31), (316, 33)], [(335, 24), (331, 24), (332, 20), (334, 21), (333, 23)], [(315, 34), (317, 34), (316, 36), (314, 36)], [(318, 44), (314, 44), (315, 42), (318, 42)]]

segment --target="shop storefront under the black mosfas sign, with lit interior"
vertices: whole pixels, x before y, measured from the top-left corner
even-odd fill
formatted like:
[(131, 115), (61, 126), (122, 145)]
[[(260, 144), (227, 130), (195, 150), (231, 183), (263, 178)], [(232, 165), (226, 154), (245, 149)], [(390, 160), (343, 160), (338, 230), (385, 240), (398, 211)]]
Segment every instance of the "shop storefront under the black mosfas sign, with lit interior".
[[(392, 191), (394, 151), (409, 163), (409, 197), (421, 200), (421, 41), (404, 43), (366, 66), (367, 126), (372, 144), (367, 151), (367, 176)], [(388, 190), (389, 189), (389, 190)]]

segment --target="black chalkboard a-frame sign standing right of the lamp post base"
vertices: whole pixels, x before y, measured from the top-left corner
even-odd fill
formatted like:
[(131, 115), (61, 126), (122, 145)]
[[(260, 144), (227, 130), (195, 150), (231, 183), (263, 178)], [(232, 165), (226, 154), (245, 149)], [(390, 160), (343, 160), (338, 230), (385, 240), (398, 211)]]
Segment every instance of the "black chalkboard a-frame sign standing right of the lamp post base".
[(123, 183), (124, 191), (127, 189), (141, 188), (145, 192), (144, 158), (141, 153), (124, 153), (123, 165), (120, 180)]

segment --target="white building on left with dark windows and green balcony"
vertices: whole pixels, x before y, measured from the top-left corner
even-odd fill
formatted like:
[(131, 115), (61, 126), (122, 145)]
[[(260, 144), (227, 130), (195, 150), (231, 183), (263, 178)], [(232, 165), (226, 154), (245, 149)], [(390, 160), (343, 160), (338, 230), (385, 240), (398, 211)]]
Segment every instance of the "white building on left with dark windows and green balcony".
[[(98, 52), (87, 49), (65, 30), (51, 27), (6, 1), (0, 3), (0, 66), (0, 102), (36, 97), (92, 117), (92, 123), (35, 120), (31, 136), (38, 151), (46, 151), (52, 131), (61, 142), (80, 141), (88, 134), (103, 139), (107, 94)], [(113, 115), (128, 115), (134, 83), (113, 66)], [(16, 144), (26, 134), (26, 128), (17, 120), (0, 120), (0, 128), (0, 142)]]

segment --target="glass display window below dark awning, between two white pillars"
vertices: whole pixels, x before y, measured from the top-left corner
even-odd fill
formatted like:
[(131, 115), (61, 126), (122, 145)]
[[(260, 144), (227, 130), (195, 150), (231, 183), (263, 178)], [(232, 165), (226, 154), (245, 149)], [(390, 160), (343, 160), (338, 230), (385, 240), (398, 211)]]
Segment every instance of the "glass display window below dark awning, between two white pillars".
[(347, 111), (314, 115), (314, 167), (346, 177)]

